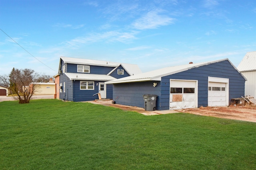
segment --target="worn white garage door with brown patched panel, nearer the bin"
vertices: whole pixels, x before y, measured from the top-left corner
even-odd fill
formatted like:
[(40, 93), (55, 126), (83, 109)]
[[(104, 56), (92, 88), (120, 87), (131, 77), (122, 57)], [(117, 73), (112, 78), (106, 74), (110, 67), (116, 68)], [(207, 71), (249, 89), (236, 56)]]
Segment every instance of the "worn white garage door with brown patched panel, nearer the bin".
[(170, 79), (170, 109), (197, 107), (197, 80)]

